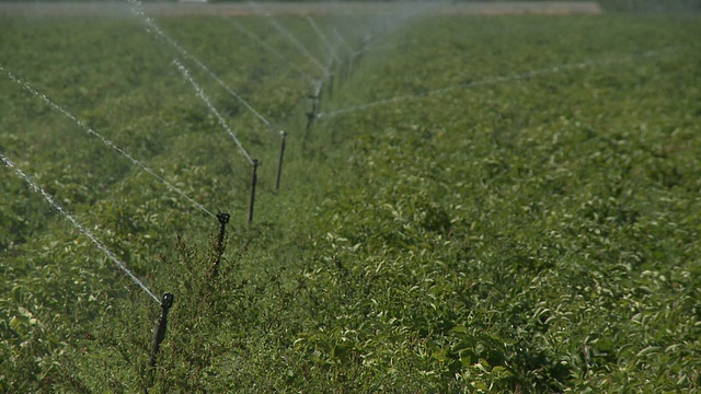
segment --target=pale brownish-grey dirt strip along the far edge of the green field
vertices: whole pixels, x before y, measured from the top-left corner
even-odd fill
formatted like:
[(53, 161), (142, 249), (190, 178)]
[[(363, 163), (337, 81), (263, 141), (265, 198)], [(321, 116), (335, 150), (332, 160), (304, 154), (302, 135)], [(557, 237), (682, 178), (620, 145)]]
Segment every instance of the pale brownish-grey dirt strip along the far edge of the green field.
[[(246, 3), (163, 2), (145, 3), (150, 15), (245, 15), (271, 14), (343, 14), (392, 13), (426, 2), (261, 2)], [(491, 1), (458, 2), (436, 5), (436, 12), (474, 15), (498, 14), (597, 14), (595, 1)], [(119, 16), (127, 12), (127, 2), (0, 2), (0, 15), (100, 15)]]

